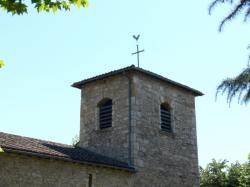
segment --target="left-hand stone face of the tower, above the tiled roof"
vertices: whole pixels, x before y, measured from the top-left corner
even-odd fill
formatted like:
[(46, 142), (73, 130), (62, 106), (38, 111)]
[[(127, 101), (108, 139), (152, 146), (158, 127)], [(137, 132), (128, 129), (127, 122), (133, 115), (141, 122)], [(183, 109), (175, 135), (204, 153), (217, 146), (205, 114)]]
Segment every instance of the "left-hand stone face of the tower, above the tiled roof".
[[(99, 129), (98, 103), (112, 99), (112, 127)], [(128, 79), (124, 75), (87, 83), (82, 88), (80, 146), (128, 161)]]

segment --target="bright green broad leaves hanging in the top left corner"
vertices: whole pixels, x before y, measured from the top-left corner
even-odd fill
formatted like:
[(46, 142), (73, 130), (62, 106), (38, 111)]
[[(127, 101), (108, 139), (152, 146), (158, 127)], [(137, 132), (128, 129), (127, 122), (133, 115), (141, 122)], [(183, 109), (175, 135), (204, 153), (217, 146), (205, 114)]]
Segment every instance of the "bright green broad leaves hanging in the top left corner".
[[(71, 5), (78, 8), (88, 6), (87, 0), (31, 0), (30, 4), (38, 12), (56, 12), (57, 10), (70, 10)], [(21, 15), (28, 13), (28, 4), (24, 0), (0, 0), (0, 8), (9, 13)]]

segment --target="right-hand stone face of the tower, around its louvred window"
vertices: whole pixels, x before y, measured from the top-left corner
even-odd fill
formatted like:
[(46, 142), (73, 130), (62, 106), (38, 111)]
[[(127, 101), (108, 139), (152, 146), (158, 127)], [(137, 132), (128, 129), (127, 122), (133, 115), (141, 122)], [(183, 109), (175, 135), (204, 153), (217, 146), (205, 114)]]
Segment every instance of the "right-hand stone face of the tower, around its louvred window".
[[(135, 186), (199, 186), (194, 96), (140, 73), (133, 83)], [(163, 102), (171, 107), (173, 133), (160, 128)]]

